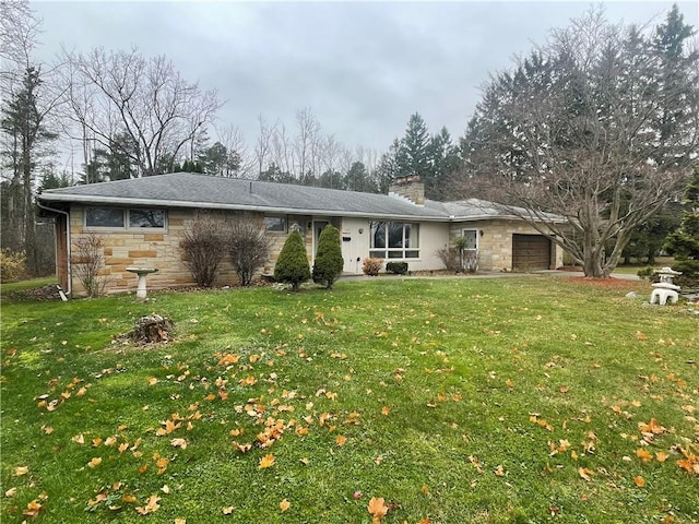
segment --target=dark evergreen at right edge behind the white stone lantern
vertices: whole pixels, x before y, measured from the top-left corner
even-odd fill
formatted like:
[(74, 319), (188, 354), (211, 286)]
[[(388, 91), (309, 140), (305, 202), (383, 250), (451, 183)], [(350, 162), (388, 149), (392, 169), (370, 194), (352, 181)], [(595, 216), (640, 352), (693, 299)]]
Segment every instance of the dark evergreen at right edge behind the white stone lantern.
[(665, 250), (675, 257), (673, 269), (683, 274), (676, 278), (679, 285), (699, 285), (699, 166), (685, 191), (687, 211), (679, 228), (667, 236)]

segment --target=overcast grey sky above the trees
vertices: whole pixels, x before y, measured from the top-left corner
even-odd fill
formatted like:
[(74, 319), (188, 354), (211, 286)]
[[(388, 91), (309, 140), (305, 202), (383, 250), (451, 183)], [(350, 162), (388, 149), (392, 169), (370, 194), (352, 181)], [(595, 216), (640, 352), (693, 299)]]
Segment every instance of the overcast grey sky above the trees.
[[(662, 21), (672, 1), (608, 1), (613, 22)], [(699, 3), (679, 1), (699, 25)], [(545, 41), (590, 2), (64, 2), (32, 3), (40, 56), (61, 46), (166, 55), (189, 81), (215, 88), (218, 123), (248, 144), (257, 118), (294, 127), (309, 107), (325, 134), (384, 151), (419, 112), (430, 132), (463, 134), (489, 72)]]

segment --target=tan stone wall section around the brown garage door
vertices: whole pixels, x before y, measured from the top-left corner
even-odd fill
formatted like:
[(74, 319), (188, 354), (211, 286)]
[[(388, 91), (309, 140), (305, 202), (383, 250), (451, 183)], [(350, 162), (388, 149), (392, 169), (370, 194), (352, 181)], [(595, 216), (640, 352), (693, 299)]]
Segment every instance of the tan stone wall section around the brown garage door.
[[(463, 229), (478, 229), (478, 269), (483, 271), (512, 270), (512, 235), (541, 235), (522, 221), (479, 221), (452, 224), (449, 230), (451, 245)], [(555, 245), (553, 260), (558, 267), (564, 263), (562, 249)]]

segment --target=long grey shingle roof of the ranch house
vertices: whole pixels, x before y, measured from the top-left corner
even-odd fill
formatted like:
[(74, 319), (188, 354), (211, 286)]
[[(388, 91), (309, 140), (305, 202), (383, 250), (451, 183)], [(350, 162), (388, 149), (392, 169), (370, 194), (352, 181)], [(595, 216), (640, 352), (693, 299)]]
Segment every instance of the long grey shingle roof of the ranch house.
[(427, 200), (423, 206), (386, 194), (191, 172), (52, 189), (44, 191), (39, 201), (49, 206), (61, 203), (149, 205), (445, 222), (513, 216), (505, 206), (476, 199), (460, 202)]

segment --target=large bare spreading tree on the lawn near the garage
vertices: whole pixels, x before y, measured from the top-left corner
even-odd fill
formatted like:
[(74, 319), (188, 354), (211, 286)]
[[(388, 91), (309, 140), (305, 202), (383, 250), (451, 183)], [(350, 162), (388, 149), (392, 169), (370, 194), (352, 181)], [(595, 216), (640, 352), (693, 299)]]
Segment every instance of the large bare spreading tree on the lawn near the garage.
[(611, 25), (593, 9), (494, 76), (470, 122), (473, 181), (502, 188), (526, 210), (511, 212), (587, 276), (609, 275), (632, 229), (676, 196), (696, 158), (690, 35), (676, 7), (651, 34)]

